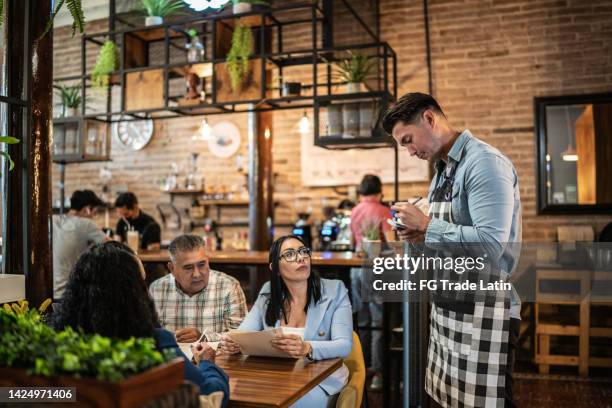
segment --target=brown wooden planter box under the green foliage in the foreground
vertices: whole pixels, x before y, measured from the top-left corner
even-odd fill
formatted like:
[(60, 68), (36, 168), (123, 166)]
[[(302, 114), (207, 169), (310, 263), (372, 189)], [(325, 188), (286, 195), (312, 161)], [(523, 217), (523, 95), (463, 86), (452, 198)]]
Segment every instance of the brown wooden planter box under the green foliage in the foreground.
[(70, 376), (48, 378), (28, 375), (24, 369), (0, 367), (0, 387), (76, 387), (75, 406), (138, 407), (179, 388), (183, 383), (183, 363), (183, 359), (176, 358), (117, 383)]

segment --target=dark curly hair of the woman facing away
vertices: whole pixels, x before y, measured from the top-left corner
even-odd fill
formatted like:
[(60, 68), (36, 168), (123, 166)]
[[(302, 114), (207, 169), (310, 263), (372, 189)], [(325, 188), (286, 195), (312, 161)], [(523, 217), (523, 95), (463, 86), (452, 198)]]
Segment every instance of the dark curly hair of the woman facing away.
[(81, 255), (52, 323), (107, 337), (153, 336), (159, 319), (134, 252), (111, 241)]

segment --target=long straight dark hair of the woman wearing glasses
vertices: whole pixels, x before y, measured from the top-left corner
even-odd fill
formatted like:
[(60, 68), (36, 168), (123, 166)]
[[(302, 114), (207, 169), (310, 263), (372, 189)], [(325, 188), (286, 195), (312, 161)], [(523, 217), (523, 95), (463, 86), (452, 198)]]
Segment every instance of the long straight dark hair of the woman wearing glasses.
[[(270, 271), (270, 297), (268, 299), (268, 308), (266, 309), (266, 324), (274, 326), (277, 320), (283, 318), (287, 323), (287, 311), (285, 310), (285, 302), (291, 301), (291, 294), (285, 285), (285, 281), (280, 274), (280, 255), (283, 242), (288, 239), (296, 239), (307, 246), (301, 237), (297, 235), (285, 235), (278, 238), (270, 247), (269, 262), (272, 265)], [(308, 292), (306, 294), (308, 301), (304, 306), (304, 312), (308, 312), (310, 304), (317, 304), (321, 300), (321, 279), (314, 271), (310, 271), (308, 277)]]

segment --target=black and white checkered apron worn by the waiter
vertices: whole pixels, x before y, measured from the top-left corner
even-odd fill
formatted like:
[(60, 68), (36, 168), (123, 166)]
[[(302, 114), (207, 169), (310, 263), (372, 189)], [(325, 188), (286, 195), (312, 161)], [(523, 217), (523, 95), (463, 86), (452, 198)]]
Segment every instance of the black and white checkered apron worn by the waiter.
[[(429, 215), (452, 223), (456, 163), (438, 172)], [(440, 183), (440, 177), (444, 177)], [(437, 253), (437, 256), (448, 254)], [(484, 273), (483, 273), (484, 272)], [(431, 271), (435, 279), (499, 281), (490, 269)], [(492, 276), (496, 275), (496, 276)], [(510, 297), (505, 291), (431, 293), (431, 321), (425, 390), (442, 407), (503, 407)]]

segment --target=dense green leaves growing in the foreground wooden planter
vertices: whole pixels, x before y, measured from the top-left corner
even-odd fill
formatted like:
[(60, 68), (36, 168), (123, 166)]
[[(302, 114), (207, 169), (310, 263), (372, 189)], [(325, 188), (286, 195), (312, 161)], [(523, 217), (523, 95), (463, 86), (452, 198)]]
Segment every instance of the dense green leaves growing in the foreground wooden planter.
[(72, 328), (55, 331), (40, 313), (23, 302), (0, 309), (0, 366), (47, 377), (121, 381), (173, 358), (170, 351), (157, 351), (152, 338), (119, 340)]

